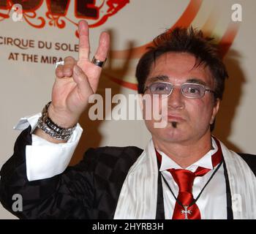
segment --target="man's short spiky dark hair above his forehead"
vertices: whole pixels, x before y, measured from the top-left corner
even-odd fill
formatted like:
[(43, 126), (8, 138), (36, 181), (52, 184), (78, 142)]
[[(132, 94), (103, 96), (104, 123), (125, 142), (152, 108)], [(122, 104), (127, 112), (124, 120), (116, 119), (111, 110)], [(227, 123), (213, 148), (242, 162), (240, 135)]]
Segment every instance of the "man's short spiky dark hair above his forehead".
[(136, 69), (138, 80), (138, 93), (144, 93), (144, 86), (151, 64), (162, 54), (168, 52), (190, 53), (195, 56), (195, 67), (201, 64), (208, 66), (214, 78), (215, 99), (222, 99), (225, 88), (225, 78), (228, 77), (225, 64), (220, 57), (219, 48), (213, 42), (213, 38), (204, 37), (203, 31), (198, 29), (176, 28), (166, 31), (153, 40), (153, 45), (140, 58)]

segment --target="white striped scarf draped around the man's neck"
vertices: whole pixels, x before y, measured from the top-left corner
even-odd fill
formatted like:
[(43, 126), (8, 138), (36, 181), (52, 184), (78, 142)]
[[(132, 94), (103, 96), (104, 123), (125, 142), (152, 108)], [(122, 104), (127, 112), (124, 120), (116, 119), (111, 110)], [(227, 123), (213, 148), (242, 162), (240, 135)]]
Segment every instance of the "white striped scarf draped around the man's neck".
[[(241, 156), (221, 143), (230, 182), (234, 219), (256, 219), (256, 177)], [(129, 169), (114, 219), (155, 219), (157, 213), (157, 156), (153, 140)]]

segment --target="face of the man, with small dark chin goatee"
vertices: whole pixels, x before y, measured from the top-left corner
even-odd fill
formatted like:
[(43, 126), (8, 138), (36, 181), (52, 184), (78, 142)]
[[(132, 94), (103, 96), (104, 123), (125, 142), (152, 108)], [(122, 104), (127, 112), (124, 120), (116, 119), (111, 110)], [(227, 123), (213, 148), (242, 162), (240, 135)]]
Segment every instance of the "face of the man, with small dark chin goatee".
[[(166, 53), (157, 58), (151, 65), (145, 86), (156, 81), (164, 81), (173, 85), (184, 83), (199, 83), (214, 90), (214, 79), (208, 67), (195, 66), (195, 57), (189, 53)], [(145, 120), (153, 140), (166, 143), (194, 143), (203, 137), (211, 136), (210, 124), (219, 109), (219, 100), (214, 101), (214, 94), (206, 91), (201, 99), (184, 97), (181, 94), (181, 86), (175, 86), (167, 99), (167, 126), (156, 128), (154, 120)], [(147, 90), (145, 94), (148, 94)], [(159, 98), (158, 102), (163, 102)], [(162, 106), (162, 107), (163, 107)], [(159, 105), (159, 113), (161, 112)], [(165, 112), (165, 113), (166, 113)], [(164, 113), (164, 112), (163, 112)], [(173, 124), (176, 123), (176, 124)]]

